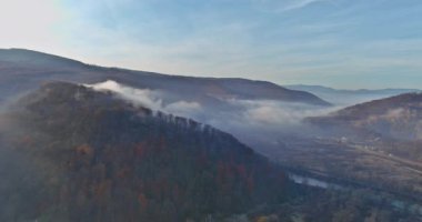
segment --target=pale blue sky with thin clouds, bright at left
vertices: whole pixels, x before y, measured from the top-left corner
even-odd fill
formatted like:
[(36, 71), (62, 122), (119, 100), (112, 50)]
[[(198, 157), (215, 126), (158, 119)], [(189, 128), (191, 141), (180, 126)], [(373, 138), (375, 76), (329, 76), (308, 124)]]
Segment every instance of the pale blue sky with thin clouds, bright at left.
[(0, 0), (0, 48), (169, 74), (422, 89), (422, 0)]

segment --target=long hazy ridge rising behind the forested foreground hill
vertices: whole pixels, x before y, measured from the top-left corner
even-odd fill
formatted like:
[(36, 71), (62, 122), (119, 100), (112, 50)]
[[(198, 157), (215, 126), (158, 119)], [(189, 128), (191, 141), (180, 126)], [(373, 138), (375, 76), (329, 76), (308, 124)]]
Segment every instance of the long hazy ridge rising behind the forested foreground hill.
[(168, 92), (164, 102), (187, 100), (204, 105), (222, 105), (221, 99), (278, 100), (315, 105), (329, 105), (320, 98), (303, 91), (289, 90), (265, 81), (233, 78), (193, 78), (102, 68), (23, 50), (0, 50), (0, 102), (8, 95), (36, 89), (49, 80), (97, 83), (113, 80), (133, 88)]

